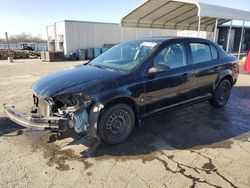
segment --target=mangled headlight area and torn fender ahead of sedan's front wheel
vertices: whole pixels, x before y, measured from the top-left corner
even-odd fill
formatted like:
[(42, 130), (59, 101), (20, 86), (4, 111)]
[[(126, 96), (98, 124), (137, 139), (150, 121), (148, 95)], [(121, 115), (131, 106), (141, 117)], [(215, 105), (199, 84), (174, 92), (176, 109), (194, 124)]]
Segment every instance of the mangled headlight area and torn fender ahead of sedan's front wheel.
[(68, 118), (69, 125), (77, 133), (87, 133), (97, 137), (97, 124), (102, 103), (83, 93), (64, 94), (52, 98), (53, 114)]

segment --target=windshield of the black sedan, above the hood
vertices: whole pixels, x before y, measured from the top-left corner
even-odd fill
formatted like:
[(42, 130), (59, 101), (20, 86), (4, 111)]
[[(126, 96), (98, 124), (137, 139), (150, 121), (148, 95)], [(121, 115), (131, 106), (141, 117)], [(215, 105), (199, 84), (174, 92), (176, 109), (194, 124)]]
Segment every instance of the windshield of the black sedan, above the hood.
[(90, 62), (90, 65), (130, 71), (156, 47), (157, 42), (129, 41), (120, 43)]

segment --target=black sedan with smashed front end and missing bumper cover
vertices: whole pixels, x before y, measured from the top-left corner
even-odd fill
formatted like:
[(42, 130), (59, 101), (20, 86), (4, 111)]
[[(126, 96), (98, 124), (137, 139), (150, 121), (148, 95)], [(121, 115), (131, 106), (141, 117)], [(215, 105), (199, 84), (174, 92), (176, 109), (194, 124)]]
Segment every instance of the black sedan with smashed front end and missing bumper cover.
[(10, 104), (4, 111), (30, 129), (74, 129), (115, 145), (156, 113), (205, 100), (223, 107), (238, 73), (237, 59), (205, 39), (132, 40), (38, 80), (30, 114)]

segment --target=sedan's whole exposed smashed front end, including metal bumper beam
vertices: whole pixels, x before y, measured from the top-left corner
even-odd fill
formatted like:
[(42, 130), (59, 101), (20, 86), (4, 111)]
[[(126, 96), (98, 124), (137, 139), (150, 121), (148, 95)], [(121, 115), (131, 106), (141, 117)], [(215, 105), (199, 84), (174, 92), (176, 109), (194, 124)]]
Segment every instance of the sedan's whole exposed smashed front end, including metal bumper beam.
[(74, 129), (76, 133), (88, 133), (96, 137), (98, 117), (102, 104), (90, 97), (79, 94), (64, 94), (52, 98), (33, 95), (32, 115), (18, 112), (13, 106), (5, 104), (5, 113), (13, 121), (34, 130), (66, 132)]

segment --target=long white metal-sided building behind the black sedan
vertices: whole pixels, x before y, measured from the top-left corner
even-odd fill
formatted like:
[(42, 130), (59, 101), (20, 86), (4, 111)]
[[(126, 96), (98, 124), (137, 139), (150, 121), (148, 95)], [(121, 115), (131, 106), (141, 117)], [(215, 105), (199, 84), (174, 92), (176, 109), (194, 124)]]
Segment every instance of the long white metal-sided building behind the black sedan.
[(47, 27), (48, 50), (64, 51), (66, 57), (79, 49), (103, 48), (124, 40), (177, 36), (175, 30), (122, 28), (120, 24), (64, 20)]

